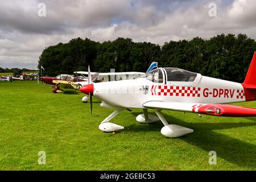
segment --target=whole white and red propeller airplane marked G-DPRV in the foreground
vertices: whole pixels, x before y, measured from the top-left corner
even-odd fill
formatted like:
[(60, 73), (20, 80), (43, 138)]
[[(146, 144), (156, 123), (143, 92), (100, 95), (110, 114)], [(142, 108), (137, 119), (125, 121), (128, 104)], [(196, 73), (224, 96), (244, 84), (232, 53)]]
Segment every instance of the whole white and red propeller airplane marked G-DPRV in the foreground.
[[(89, 80), (89, 83), (91, 81)], [(113, 132), (123, 126), (109, 122), (120, 111), (143, 109), (137, 121), (150, 123), (162, 121), (161, 133), (170, 138), (192, 133), (179, 125), (169, 125), (161, 110), (188, 111), (226, 117), (256, 117), (256, 109), (235, 105), (232, 102), (256, 100), (256, 51), (245, 81), (237, 82), (202, 76), (179, 68), (157, 68), (134, 80), (99, 82), (82, 86), (81, 92), (89, 94), (92, 113), (92, 95), (101, 100), (101, 106), (115, 111), (101, 122), (99, 129)], [(153, 109), (158, 115), (147, 113)]]

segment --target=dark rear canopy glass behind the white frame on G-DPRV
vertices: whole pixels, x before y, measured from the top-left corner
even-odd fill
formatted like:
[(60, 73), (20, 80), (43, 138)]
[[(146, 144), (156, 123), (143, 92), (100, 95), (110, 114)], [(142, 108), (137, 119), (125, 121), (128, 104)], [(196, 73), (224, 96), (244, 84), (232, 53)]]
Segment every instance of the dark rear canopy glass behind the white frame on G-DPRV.
[(167, 81), (194, 81), (197, 73), (179, 68), (164, 68), (167, 73)]

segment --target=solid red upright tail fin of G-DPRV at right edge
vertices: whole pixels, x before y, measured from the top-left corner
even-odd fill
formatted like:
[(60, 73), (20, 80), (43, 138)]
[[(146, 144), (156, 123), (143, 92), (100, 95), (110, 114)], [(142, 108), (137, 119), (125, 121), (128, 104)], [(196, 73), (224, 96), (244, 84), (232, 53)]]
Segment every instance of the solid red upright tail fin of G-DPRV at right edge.
[(256, 51), (254, 52), (253, 59), (251, 59), (250, 67), (242, 85), (245, 88), (256, 89)]

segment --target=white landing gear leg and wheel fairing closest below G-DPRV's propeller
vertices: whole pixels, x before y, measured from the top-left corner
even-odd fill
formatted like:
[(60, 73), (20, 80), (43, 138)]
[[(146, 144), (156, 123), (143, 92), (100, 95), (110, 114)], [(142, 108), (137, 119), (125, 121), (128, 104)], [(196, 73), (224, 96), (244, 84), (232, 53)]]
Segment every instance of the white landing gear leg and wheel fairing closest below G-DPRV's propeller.
[(108, 117), (106, 117), (101, 124), (98, 126), (98, 128), (101, 131), (105, 132), (113, 132), (117, 130), (124, 129), (123, 126), (117, 125), (115, 123), (110, 123), (109, 121), (112, 120), (117, 114), (119, 114), (122, 110), (115, 110), (113, 113), (111, 113)]

